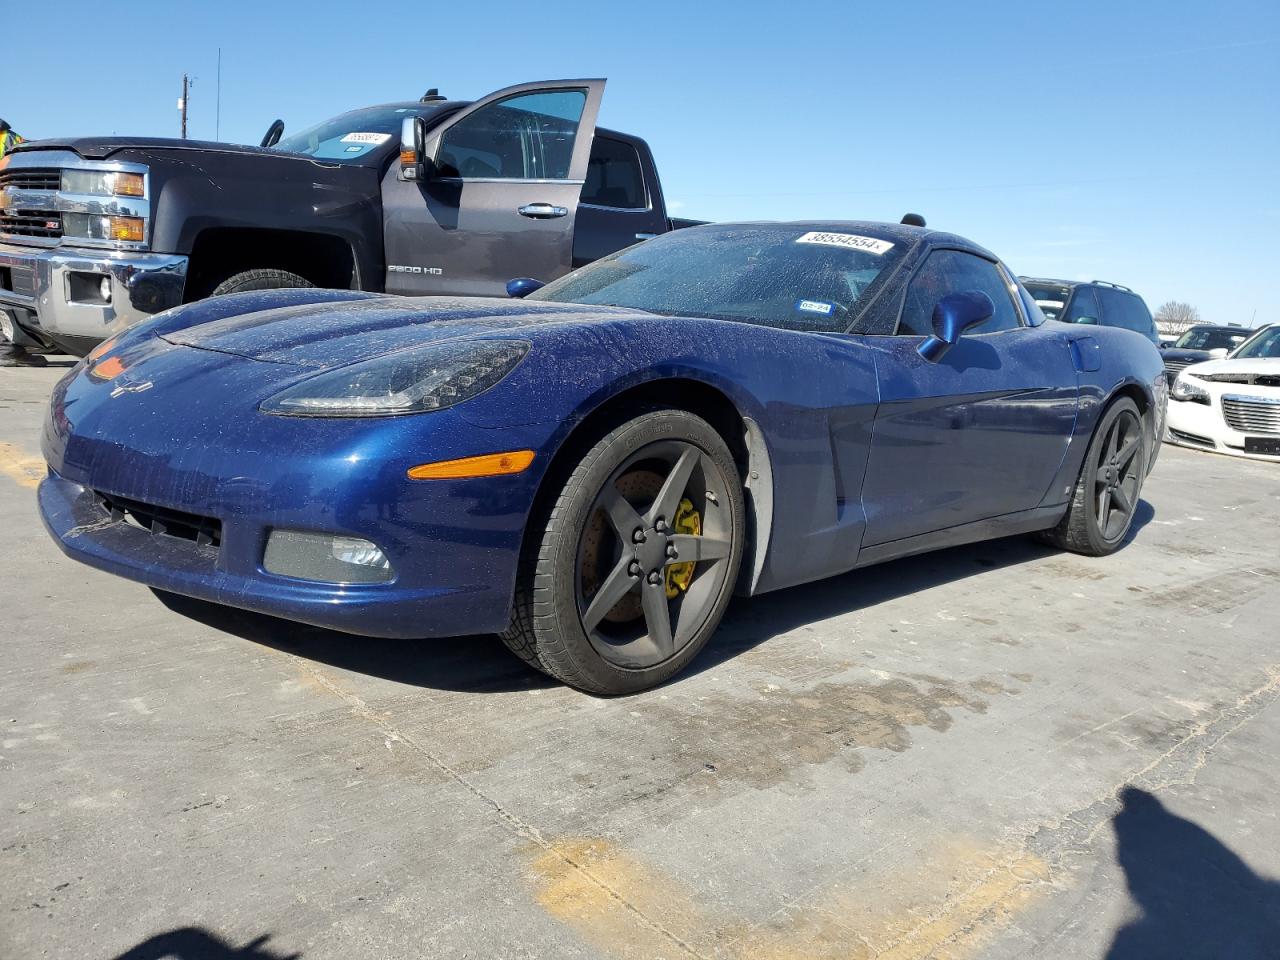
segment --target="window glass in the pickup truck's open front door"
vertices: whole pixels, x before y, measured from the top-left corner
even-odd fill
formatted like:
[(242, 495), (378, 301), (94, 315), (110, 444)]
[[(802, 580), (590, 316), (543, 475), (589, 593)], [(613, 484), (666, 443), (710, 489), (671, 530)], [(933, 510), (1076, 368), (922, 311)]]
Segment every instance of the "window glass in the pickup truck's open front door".
[(520, 93), (489, 104), (444, 132), (440, 177), (563, 180), (573, 156), (586, 92)]

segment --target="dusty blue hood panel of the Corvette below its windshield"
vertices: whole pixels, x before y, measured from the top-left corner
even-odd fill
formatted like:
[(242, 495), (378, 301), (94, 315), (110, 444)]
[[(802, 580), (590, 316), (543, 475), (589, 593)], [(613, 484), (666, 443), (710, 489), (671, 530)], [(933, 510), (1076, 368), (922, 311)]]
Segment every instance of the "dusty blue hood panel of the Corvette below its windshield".
[(550, 324), (648, 317), (636, 310), (492, 297), (371, 297), (239, 314), (163, 334), (183, 347), (328, 369), (433, 340), (520, 337)]

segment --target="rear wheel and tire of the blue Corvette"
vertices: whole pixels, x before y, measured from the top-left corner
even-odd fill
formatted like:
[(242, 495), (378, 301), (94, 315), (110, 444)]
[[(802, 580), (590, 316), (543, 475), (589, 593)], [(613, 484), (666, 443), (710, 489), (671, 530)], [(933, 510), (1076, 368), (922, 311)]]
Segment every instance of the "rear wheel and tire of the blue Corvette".
[(1087, 557), (1117, 550), (1133, 526), (1147, 456), (1138, 404), (1121, 397), (1102, 412), (1093, 430), (1066, 513), (1041, 539)]

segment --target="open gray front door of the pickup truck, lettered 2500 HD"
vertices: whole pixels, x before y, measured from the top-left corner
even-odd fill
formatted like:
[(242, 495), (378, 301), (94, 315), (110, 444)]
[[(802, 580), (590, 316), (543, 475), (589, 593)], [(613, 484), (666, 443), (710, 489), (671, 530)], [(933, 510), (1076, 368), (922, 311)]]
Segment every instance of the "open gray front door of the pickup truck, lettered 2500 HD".
[(387, 291), (506, 296), (573, 265), (573, 225), (603, 79), (522, 83), (428, 133), (428, 177), (383, 179)]

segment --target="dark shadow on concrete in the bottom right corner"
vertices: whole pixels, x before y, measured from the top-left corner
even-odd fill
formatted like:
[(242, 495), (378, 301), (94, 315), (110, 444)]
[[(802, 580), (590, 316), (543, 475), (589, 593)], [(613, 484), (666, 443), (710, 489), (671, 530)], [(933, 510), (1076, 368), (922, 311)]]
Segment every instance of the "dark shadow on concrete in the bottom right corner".
[(1125, 787), (1120, 801), (1116, 859), (1139, 915), (1116, 932), (1107, 960), (1280, 955), (1280, 883), (1146, 790)]

